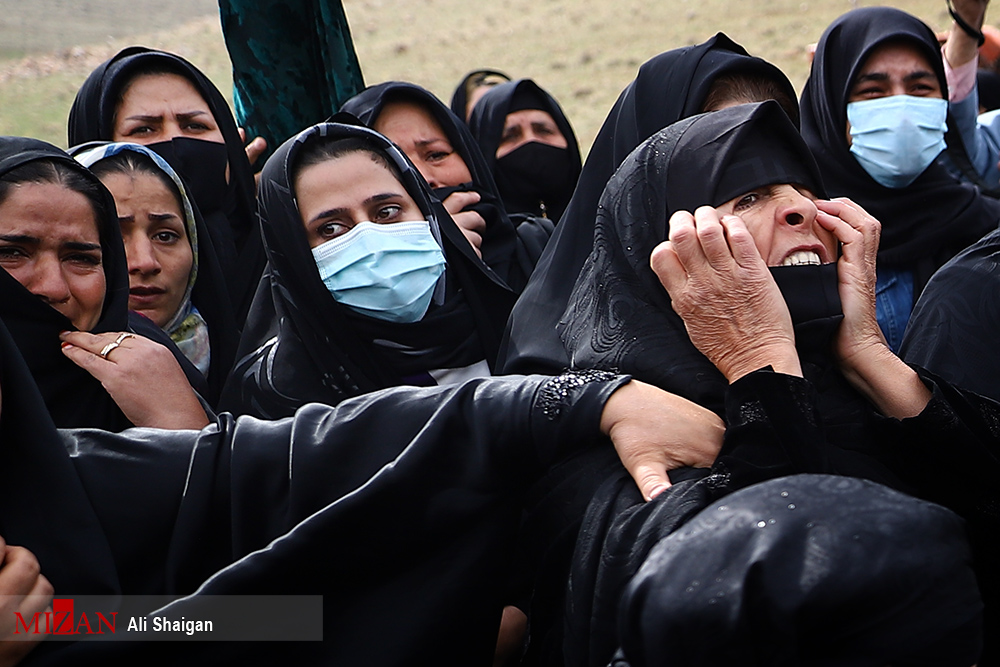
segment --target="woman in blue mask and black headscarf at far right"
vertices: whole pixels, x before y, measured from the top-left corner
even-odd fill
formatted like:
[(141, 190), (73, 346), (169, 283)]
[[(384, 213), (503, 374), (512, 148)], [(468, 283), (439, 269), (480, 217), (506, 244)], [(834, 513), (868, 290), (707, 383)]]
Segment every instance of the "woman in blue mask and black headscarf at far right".
[(834, 21), (802, 91), (802, 135), (829, 193), (882, 221), (878, 318), (894, 350), (931, 274), (1000, 222), (1000, 203), (937, 162), (947, 98), (934, 33), (888, 7)]

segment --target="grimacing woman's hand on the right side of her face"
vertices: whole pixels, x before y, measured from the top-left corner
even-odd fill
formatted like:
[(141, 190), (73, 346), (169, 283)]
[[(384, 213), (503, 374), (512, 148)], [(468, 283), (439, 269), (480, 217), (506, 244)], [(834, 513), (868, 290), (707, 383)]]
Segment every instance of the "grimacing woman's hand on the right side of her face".
[(816, 222), (841, 243), (837, 279), (844, 321), (835, 349), (841, 364), (850, 366), (866, 350), (888, 347), (875, 317), (875, 263), (882, 225), (847, 198), (817, 201), (816, 207)]

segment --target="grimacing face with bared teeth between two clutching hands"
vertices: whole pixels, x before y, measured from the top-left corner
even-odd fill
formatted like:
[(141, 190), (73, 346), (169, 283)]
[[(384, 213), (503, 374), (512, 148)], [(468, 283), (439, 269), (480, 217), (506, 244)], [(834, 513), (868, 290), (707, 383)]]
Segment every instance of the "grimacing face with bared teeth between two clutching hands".
[(816, 196), (785, 183), (765, 185), (716, 207), (746, 223), (768, 266), (829, 264), (837, 260), (837, 239), (816, 223)]

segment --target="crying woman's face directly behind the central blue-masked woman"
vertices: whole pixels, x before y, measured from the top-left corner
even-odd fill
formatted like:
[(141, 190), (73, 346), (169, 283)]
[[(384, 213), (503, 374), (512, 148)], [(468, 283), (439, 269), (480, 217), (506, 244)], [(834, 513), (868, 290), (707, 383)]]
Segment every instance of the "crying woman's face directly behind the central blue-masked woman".
[(444, 129), (419, 104), (387, 104), (374, 129), (406, 153), (432, 188), (450, 188), (472, 180), (468, 165), (455, 151)]

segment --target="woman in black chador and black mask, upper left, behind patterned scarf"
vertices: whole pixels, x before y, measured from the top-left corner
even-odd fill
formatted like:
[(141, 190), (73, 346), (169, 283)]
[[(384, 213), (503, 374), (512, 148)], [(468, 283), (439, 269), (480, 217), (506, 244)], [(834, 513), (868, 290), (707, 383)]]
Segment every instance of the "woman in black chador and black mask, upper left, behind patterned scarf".
[(91, 72), (70, 109), (69, 145), (89, 141), (148, 145), (181, 175), (205, 218), (242, 324), (266, 260), (253, 170), (215, 84), (173, 53), (123, 49)]

